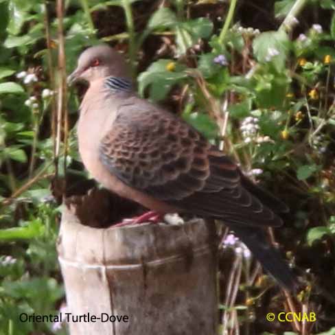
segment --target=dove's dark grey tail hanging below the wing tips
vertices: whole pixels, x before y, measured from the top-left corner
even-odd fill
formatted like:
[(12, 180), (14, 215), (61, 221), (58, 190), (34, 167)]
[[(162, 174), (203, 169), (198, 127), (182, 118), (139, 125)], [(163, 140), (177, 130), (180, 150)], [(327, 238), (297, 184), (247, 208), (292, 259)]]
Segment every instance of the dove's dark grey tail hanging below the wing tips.
[(238, 238), (248, 246), (251, 253), (262, 264), (263, 268), (272, 275), (284, 288), (294, 291), (297, 288), (297, 280), (292, 275), (290, 268), (273, 246), (270, 246), (266, 238), (266, 232), (257, 227), (240, 227), (228, 224)]

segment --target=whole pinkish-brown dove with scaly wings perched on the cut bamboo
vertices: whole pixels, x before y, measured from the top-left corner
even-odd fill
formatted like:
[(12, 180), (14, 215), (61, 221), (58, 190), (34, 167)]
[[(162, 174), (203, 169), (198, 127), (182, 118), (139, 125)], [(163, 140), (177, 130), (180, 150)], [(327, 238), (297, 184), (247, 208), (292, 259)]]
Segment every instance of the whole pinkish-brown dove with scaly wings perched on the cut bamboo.
[[(224, 152), (181, 117), (139, 97), (122, 54), (108, 45), (84, 50), (69, 83), (89, 83), (78, 120), (86, 170), (106, 189), (155, 214), (190, 213), (224, 222), (281, 286), (294, 275), (268, 243), (288, 207), (255, 185)], [(139, 222), (139, 221), (137, 221)]]

